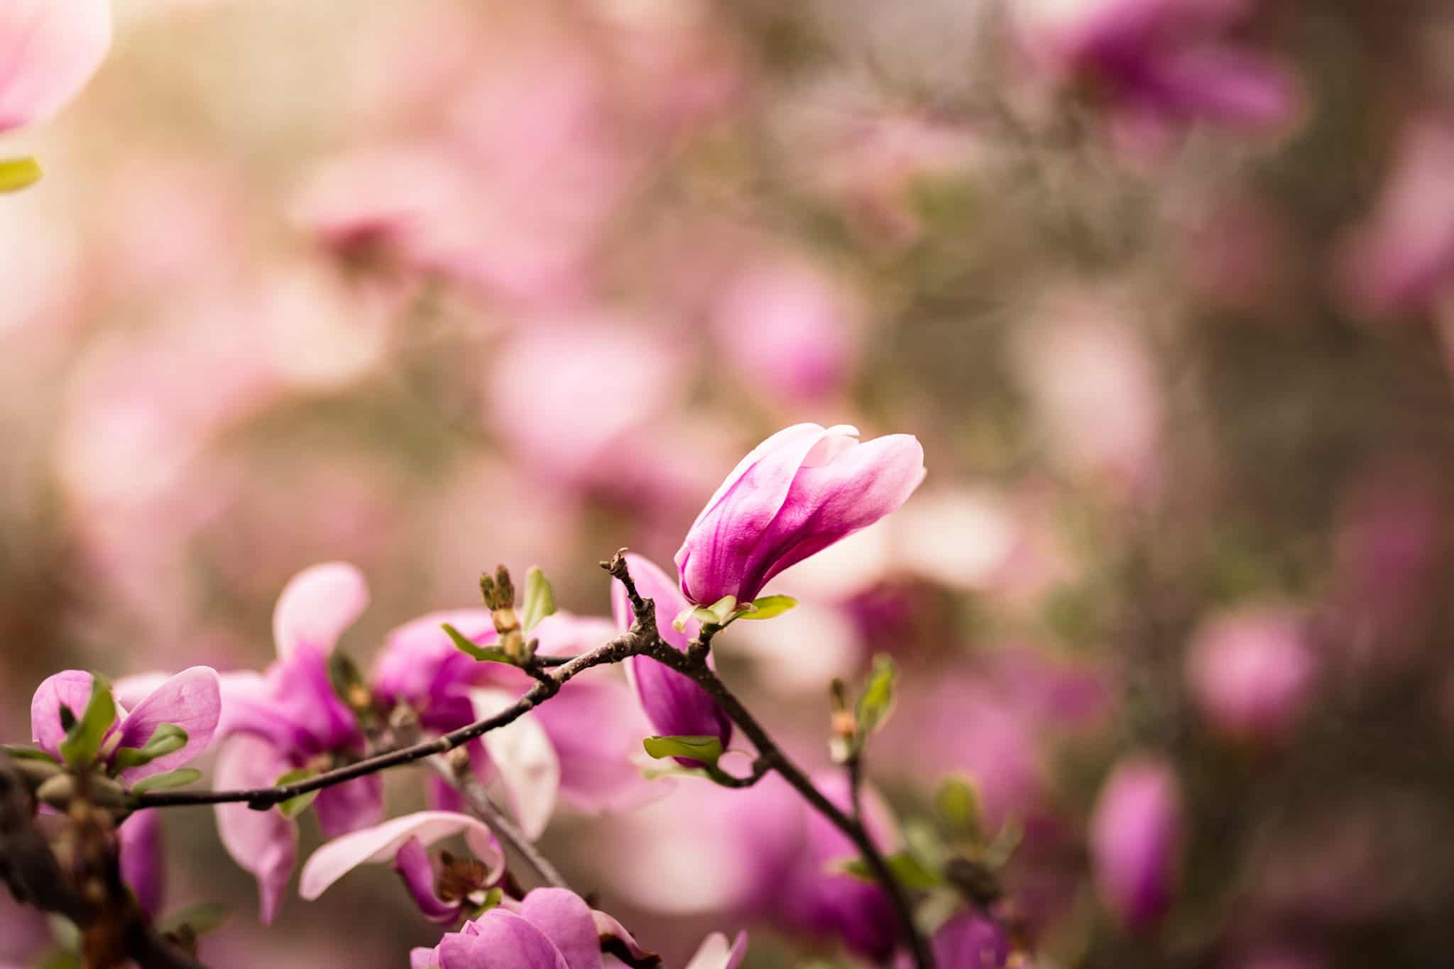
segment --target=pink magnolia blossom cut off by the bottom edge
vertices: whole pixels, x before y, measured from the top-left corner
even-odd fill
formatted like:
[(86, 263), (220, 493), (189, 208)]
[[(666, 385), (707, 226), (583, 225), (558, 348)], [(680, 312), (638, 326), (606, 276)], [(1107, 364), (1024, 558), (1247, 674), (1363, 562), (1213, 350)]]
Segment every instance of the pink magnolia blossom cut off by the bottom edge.
[[(625, 947), (634, 959), (650, 957), (621, 923), (593, 911), (563, 888), (538, 888), (446, 933), (433, 949), (414, 949), (411, 969), (602, 969), (602, 943)], [(730, 946), (712, 933), (686, 969), (736, 969), (747, 952), (747, 934)], [(615, 965), (615, 960), (612, 960)]]

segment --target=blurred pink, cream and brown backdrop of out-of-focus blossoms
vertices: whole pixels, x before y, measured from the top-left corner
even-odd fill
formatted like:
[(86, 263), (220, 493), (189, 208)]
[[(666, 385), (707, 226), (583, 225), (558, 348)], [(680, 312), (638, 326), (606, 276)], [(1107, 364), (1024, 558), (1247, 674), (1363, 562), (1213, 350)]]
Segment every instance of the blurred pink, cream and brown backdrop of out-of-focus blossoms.
[[(1021, 832), (1025, 965), (1448, 965), (1448, 4), (124, 0), (0, 148), (47, 167), (0, 198), (7, 738), (60, 668), (262, 667), (318, 561), (369, 577), (364, 667), (499, 562), (605, 615), (598, 559), (852, 423), (928, 479), (720, 664), (827, 766), (827, 681), (891, 654), (868, 774)], [(1086, 843), (1138, 757), (1181, 847), (1130, 928)], [(669, 965), (849, 965), (743, 896), (775, 811), (683, 784), (544, 847)], [(265, 931), (208, 809), (164, 837), (169, 902), (233, 908), (209, 965), (438, 937), (387, 867)]]

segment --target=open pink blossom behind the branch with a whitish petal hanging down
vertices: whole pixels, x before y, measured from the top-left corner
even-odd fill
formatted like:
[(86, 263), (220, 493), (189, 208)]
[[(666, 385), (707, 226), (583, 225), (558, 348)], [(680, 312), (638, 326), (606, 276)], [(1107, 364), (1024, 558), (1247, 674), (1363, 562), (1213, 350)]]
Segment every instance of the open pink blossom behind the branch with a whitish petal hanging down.
[[(432, 734), (489, 716), (534, 684), (515, 667), (462, 654), (443, 623), (480, 645), (496, 642), (487, 609), (430, 613), (388, 633), (372, 676), (375, 703), (411, 709)], [(557, 612), (529, 635), (544, 655), (576, 654), (606, 642), (615, 628), (606, 619)], [(550, 819), (557, 795), (585, 812), (628, 808), (660, 793), (632, 763), (650, 732), (634, 708), (609, 673), (590, 671), (573, 677), (550, 703), (473, 741), (471, 760), (483, 780), (499, 780), (522, 825), (535, 832)], [(430, 795), (438, 808), (459, 806), (448, 784), (433, 784)]]

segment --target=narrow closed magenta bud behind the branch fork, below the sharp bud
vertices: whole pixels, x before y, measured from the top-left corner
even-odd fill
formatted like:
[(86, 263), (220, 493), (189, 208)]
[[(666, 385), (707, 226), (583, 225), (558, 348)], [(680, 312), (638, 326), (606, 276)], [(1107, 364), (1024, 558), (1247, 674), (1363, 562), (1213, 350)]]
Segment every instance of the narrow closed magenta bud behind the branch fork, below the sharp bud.
[[(676, 588), (676, 583), (667, 578), (654, 562), (640, 555), (627, 555), (627, 567), (631, 578), (641, 596), (656, 601), (656, 628), (667, 644), (676, 649), (686, 649), (686, 644), (698, 633), (701, 623), (689, 620), (680, 632), (672, 625), (672, 619), (689, 604)], [(616, 617), (616, 628), (625, 632), (635, 622), (631, 612), (631, 601), (625, 587), (615, 583), (611, 588), (611, 612)], [(710, 660), (708, 660), (710, 661)], [(731, 742), (731, 721), (717, 702), (707, 692), (692, 683), (688, 677), (670, 670), (650, 657), (631, 657), (627, 660), (627, 677), (635, 690), (641, 709), (657, 734), (667, 737), (715, 737), (723, 748)], [(678, 757), (686, 767), (695, 767), (696, 761)]]

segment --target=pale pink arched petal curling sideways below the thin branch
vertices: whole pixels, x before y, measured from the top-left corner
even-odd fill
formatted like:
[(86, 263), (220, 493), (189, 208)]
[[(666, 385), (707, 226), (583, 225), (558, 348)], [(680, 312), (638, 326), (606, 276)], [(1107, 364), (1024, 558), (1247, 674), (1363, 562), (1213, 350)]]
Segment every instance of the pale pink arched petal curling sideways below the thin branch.
[(346, 834), (320, 847), (302, 866), (298, 895), (313, 901), (359, 864), (393, 861), (404, 843), (411, 838), (422, 847), (429, 847), (461, 831), (470, 851), (489, 867), (487, 879), (490, 882), (497, 879), (505, 870), (505, 856), (494, 834), (483, 821), (465, 814), (419, 811)]

